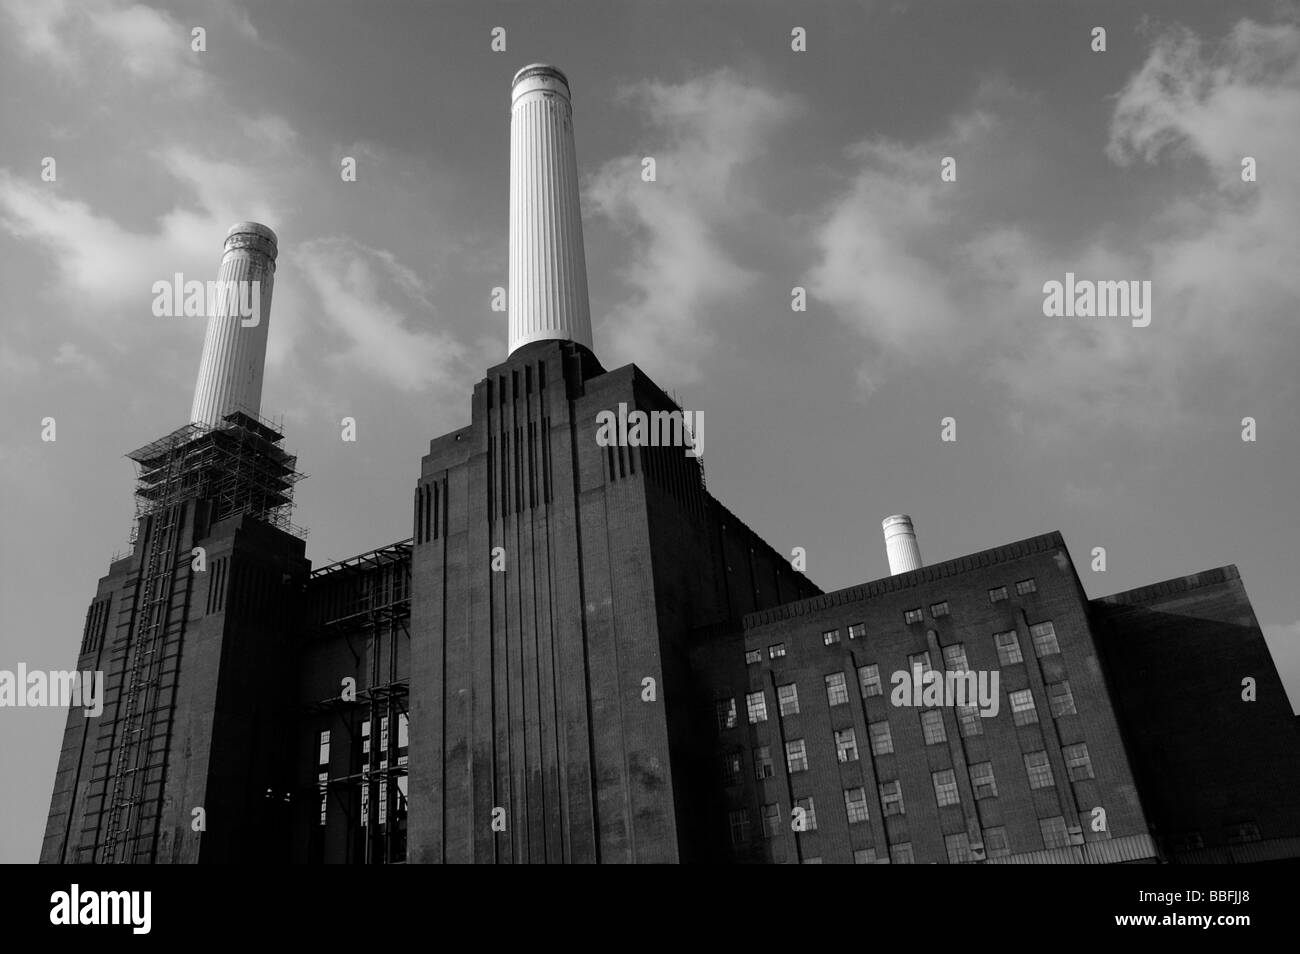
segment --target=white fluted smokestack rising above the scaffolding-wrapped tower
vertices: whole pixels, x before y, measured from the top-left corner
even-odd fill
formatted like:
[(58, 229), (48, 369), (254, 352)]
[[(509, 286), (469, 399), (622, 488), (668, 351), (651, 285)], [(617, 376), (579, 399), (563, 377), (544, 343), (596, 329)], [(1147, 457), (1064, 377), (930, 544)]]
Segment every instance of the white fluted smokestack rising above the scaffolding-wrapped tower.
[[(261, 374), (266, 364), (266, 326), (276, 281), (276, 233), (257, 222), (239, 222), (226, 233), (214, 296), (203, 339), (199, 380), (190, 420), (220, 424), (231, 411), (261, 411)], [(254, 287), (246, 282), (259, 282)], [(240, 307), (243, 305), (243, 307)], [(248, 315), (251, 312), (252, 315)], [(255, 321), (256, 320), (256, 321)]]

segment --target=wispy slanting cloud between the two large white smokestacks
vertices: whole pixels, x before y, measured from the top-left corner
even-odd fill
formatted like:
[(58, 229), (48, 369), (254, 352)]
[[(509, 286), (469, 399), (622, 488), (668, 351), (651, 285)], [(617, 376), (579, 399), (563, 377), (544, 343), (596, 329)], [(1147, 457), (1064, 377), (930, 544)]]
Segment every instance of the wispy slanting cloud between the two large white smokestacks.
[(320, 299), (328, 330), (342, 342), (326, 357), (335, 368), (374, 374), (403, 391), (468, 382), (464, 347), (434, 328), (428, 287), (391, 252), (350, 239), (316, 239), (299, 250), (296, 269)]

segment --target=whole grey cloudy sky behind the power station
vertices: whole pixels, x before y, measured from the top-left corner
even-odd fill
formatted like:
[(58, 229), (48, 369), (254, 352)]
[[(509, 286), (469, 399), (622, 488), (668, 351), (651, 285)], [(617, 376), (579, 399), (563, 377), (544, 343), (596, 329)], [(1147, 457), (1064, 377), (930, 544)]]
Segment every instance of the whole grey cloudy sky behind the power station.
[[(710, 491), (814, 582), (887, 576), (890, 513), (931, 563), (1060, 530), (1091, 597), (1232, 563), (1300, 707), (1279, 3), (0, 0), (0, 669), (74, 665), (124, 455), (192, 396), (203, 321), (153, 283), (214, 279), (238, 221), (280, 237), (263, 415), (308, 556), (411, 534), (506, 355), (536, 61), (573, 90), (597, 355), (705, 412)], [(1045, 316), (1066, 273), (1149, 281), (1150, 324)], [(39, 853), (64, 721), (0, 711), (0, 860)]]

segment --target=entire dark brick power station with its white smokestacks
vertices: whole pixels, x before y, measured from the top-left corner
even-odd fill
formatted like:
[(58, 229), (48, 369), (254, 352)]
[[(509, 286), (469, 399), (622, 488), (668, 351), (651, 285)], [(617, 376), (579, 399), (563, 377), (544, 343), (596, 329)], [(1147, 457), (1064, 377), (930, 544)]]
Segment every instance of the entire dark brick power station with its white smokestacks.
[(682, 412), (594, 354), (558, 69), (512, 87), (507, 357), (430, 442), (411, 534), (318, 569), (259, 416), (277, 255), (230, 230), (191, 421), (129, 455), (77, 664), (104, 711), (69, 714), (42, 862), (1300, 857), (1234, 567), (1089, 600), (1060, 534), (924, 565), (900, 515), (892, 576), (822, 593), (689, 441), (602, 439)]

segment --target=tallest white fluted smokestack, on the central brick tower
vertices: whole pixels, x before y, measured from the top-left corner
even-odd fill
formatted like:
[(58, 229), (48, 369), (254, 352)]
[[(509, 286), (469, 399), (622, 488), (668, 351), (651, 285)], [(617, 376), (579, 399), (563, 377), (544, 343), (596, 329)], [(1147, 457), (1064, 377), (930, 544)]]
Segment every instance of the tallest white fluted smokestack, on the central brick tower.
[(568, 79), (533, 64), (510, 110), (510, 351), (546, 338), (592, 347)]

